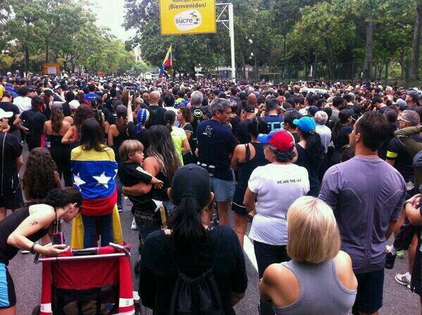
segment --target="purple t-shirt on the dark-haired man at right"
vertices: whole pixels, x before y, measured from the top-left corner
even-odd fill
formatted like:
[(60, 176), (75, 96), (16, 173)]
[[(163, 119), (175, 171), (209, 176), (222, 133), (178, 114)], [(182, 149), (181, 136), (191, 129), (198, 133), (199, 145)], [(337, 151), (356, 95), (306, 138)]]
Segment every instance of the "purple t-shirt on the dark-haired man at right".
[(355, 156), (325, 173), (319, 198), (334, 211), (354, 273), (384, 268), (385, 233), (399, 219), (406, 192), (402, 175), (378, 158)]

